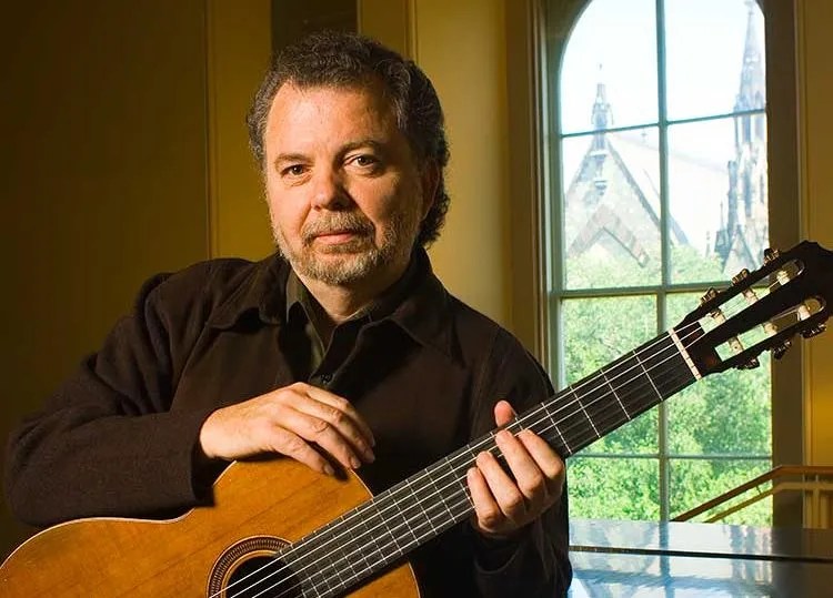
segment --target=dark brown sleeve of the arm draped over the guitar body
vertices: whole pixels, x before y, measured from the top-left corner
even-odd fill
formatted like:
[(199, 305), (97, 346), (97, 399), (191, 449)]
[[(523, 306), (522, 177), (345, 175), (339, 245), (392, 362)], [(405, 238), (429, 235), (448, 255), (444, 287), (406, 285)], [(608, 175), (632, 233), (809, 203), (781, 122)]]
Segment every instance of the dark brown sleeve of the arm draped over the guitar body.
[(193, 450), (210, 412), (169, 407), (200, 311), (189, 306), (191, 320), (177, 321), (167, 280), (149, 280), (101, 349), (10, 435), (4, 488), (20, 520), (152, 516), (198, 501)]

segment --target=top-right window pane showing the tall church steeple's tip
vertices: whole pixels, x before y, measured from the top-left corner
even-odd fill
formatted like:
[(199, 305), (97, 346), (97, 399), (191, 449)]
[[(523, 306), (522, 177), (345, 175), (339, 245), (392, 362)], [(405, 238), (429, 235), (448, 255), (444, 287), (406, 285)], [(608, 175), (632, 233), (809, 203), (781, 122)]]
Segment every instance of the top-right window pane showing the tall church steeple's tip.
[(763, 30), (747, 0), (665, 0), (669, 119), (763, 108)]

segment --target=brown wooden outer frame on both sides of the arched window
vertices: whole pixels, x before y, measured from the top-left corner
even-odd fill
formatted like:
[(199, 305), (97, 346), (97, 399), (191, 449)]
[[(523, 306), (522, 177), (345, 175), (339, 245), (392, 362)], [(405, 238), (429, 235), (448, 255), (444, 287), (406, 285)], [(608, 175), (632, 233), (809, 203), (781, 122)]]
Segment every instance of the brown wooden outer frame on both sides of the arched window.
[[(546, 230), (553, 215), (550, 197), (553, 192), (561, 193), (561, 181), (558, 144), (549, 143), (550, 131), (558, 131), (553, 124), (558, 124), (559, 116), (554, 102), (548, 97), (550, 93), (558, 97), (559, 75), (553, 65), (561, 64), (570, 32), (590, 1), (525, 0), (520, 10), (506, 13), (509, 130), (513, 148), (510, 180), (513, 190), (519, 191), (516, 195), (530, 199), (512, 206), (515, 283), (512, 324), (518, 336), (543, 364), (551, 364), (559, 357), (556, 347), (549, 342), (550, 320), (554, 317), (559, 322), (559, 306), (549, 305), (548, 288), (551, 276), (562, 275), (559, 267), (551, 267), (549, 263), (552, 247)], [(786, 249), (801, 237), (796, 7), (794, 0), (759, 0), (759, 4), (764, 13), (766, 41), (770, 240), (772, 246)], [(791, 84), (784, 84), (785, 81)], [(776, 160), (773, 151), (777, 153)], [(658, 313), (658, 317), (663, 316)], [(773, 466), (803, 463), (803, 356), (797, 345), (772, 366)], [(558, 384), (558, 373), (552, 377)], [(801, 500), (776, 495), (773, 506), (775, 525), (801, 524)]]

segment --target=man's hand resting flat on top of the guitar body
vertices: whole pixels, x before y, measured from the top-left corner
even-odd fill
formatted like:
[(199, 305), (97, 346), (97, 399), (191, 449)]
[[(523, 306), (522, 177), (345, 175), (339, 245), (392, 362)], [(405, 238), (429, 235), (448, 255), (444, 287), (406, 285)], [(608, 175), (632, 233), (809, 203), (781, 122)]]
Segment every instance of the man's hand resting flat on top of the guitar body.
[(280, 453), (329, 475), (334, 470), (322, 452), (355, 469), (373, 460), (373, 434), (347, 399), (303, 383), (218, 409), (200, 429), (200, 447), (209, 458)]

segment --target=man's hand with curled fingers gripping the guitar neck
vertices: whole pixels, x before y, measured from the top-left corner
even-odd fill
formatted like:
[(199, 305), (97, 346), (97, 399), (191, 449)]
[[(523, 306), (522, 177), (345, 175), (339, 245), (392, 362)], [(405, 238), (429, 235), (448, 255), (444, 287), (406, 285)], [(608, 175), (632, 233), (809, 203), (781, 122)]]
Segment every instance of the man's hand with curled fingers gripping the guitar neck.
[[(499, 426), (509, 424), (514, 416), (505, 401), (494, 406)], [(546, 442), (528, 429), (516, 436), (503, 429), (495, 442), (510, 473), (491, 453), (478, 455), (476, 467), (466, 475), (474, 503), (472, 525), (484, 536), (510, 538), (559, 500), (564, 463)]]

